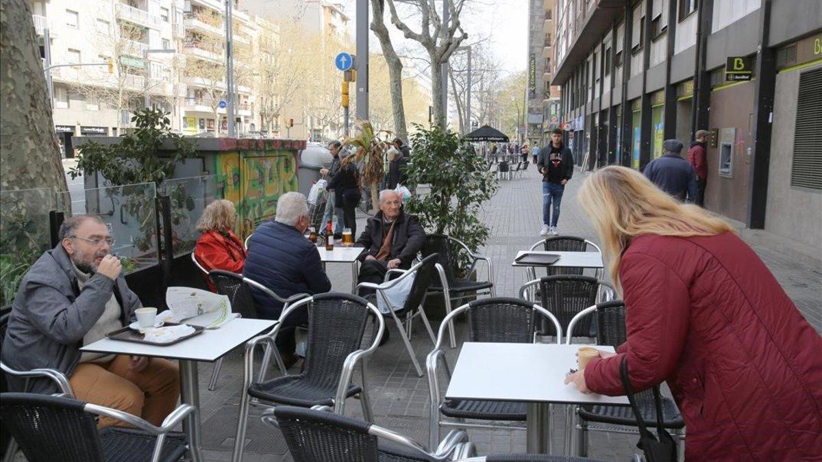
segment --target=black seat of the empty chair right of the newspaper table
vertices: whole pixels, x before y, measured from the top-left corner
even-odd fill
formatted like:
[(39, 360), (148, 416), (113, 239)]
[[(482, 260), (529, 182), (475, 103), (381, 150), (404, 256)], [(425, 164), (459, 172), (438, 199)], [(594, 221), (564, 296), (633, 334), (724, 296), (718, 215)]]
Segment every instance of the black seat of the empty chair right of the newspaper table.
[[(349, 391), (345, 397), (350, 398), (362, 390), (359, 386), (349, 385)], [(317, 385), (308, 382), (302, 375), (277, 377), (274, 380), (254, 383), (248, 387), (248, 395), (255, 398), (305, 408), (316, 405), (333, 406), (336, 392), (335, 384)]]

